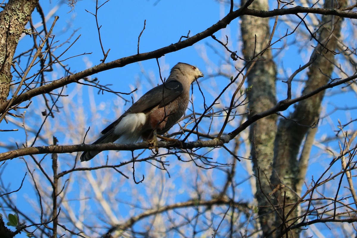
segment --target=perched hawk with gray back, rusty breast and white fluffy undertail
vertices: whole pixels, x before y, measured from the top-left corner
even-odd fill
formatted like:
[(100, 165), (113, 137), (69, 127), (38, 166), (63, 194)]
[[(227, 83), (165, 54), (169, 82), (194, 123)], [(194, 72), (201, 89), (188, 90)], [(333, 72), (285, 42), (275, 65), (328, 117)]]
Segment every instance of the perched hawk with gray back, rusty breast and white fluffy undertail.
[[(136, 143), (141, 138), (156, 146), (156, 135), (167, 132), (183, 116), (188, 106), (190, 85), (203, 77), (195, 66), (178, 63), (164, 84), (145, 93), (121, 117), (101, 133), (93, 144)], [(83, 152), (81, 161), (88, 161), (100, 151)]]

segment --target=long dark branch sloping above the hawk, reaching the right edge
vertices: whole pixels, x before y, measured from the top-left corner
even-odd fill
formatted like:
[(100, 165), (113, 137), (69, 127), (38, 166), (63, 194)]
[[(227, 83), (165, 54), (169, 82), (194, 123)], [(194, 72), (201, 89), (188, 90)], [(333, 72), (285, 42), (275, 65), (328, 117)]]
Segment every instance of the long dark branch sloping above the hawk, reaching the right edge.
[[(149, 59), (155, 59), (159, 58), (165, 54), (168, 54), (170, 52), (175, 52), (178, 50), (181, 50), (183, 48), (192, 46), (193, 44), (197, 43), (198, 41), (201, 41), (202, 39), (205, 39), (208, 36), (211, 36), (218, 30), (221, 30), (225, 28), (230, 22), (234, 19), (236, 19), (239, 16), (242, 15), (251, 15), (251, 16), (258, 16), (258, 17), (273, 17), (277, 15), (289, 15), (289, 14), (297, 14), (297, 13), (315, 13), (315, 14), (330, 14), (330, 15), (336, 15), (336, 16), (341, 16), (341, 17), (349, 17), (352, 19), (357, 18), (357, 13), (354, 12), (345, 12), (341, 10), (336, 10), (336, 9), (320, 9), (320, 8), (309, 8), (309, 7), (294, 7), (292, 9), (278, 9), (278, 10), (273, 10), (273, 11), (257, 11), (257, 10), (251, 10), (247, 9), (247, 7), (252, 3), (253, 1), (247, 1), (246, 4), (241, 7), (240, 9), (228, 13), (225, 17), (223, 17), (222, 20), (218, 21), (216, 24), (212, 25), (211, 27), (207, 28), (205, 31), (202, 31), (195, 36), (192, 36), (188, 38), (187, 40), (184, 41), (179, 41), (175, 44), (171, 44), (169, 46), (163, 47), (158, 50), (142, 53), (142, 54), (136, 54), (136, 55), (131, 55), (127, 57), (123, 57), (121, 59), (117, 59), (108, 63), (102, 63), (99, 65), (96, 65), (94, 67), (91, 67), (89, 69), (83, 70), (81, 72), (78, 72), (73, 75), (69, 75), (67, 77), (64, 77), (63, 79), (56, 80), (52, 83), (40, 86), (38, 88), (34, 88), (32, 90), (29, 90), (25, 93), (22, 93), (16, 99), (11, 103), (10, 106), (14, 106), (16, 104), (19, 104), (21, 102), (27, 101), (30, 98), (43, 94), (43, 93), (49, 93), (52, 90), (55, 90), (56, 88), (63, 87), (69, 83), (77, 82), (80, 79), (83, 79), (85, 77), (88, 77), (90, 75), (109, 70), (109, 69), (114, 69), (117, 67), (124, 67), (125, 65), (132, 64), (134, 62), (139, 62), (143, 60), (149, 60)], [(3, 113), (5, 110), (5, 107), (9, 103), (9, 101), (2, 103), (0, 105), (0, 113)]]

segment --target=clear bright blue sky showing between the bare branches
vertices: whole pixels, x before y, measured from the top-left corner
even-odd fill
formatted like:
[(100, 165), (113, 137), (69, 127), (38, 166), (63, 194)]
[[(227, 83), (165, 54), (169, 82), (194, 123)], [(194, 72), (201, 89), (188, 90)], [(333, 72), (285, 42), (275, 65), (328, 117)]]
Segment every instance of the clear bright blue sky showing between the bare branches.
[[(66, 40), (74, 31), (74, 36), (72, 37), (72, 42), (77, 36), (81, 35), (79, 40), (75, 43), (75, 45), (65, 53), (63, 59), (66, 57), (70, 57), (73, 55), (80, 55), (83, 53), (92, 53), (90, 55), (78, 56), (76, 58), (65, 61), (66, 64), (70, 65), (72, 72), (79, 72), (88, 67), (100, 64), (100, 59), (103, 58), (98, 34), (97, 27), (95, 23), (95, 17), (90, 13), (86, 12), (88, 10), (90, 12), (95, 12), (95, 1), (86, 0), (86, 1), (78, 1), (75, 6), (74, 11), (70, 11), (70, 8), (65, 4), (61, 4), (60, 1), (40, 1), (44, 12), (48, 12), (50, 9), (54, 9), (55, 6), (59, 5), (59, 9), (55, 12), (54, 15), (60, 16), (57, 24), (54, 28), (54, 41), (59, 41), (56, 43), (57, 45), (61, 44), (64, 40)], [(103, 1), (101, 1), (103, 3)], [(272, 6), (275, 3), (273, 3)], [(219, 4), (217, 1), (207, 1), (207, 0), (198, 0), (198, 1), (115, 1), (111, 0), (107, 2), (104, 6), (101, 7), (98, 13), (98, 20), (101, 26), (101, 37), (102, 44), (104, 46), (104, 50), (107, 51), (110, 49), (109, 55), (106, 59), (106, 62), (119, 59), (121, 57), (135, 55), (137, 53), (137, 41), (140, 32), (144, 26), (144, 20), (146, 20), (146, 28), (140, 38), (140, 53), (148, 52), (152, 50), (159, 49), (164, 46), (168, 46), (170, 44), (174, 44), (177, 42), (181, 36), (187, 35), (188, 31), (190, 31), (190, 36), (193, 36), (207, 27), (215, 24), (221, 17), (223, 17), (229, 8), (224, 4)], [(39, 21), (38, 15), (34, 13), (35, 22), (36, 19)], [(53, 20), (53, 16), (48, 20), (49, 23)], [(218, 39), (224, 41), (225, 35), (229, 35), (229, 44), (231, 50), (237, 50), (238, 53), (241, 51), (241, 45), (239, 43), (240, 33), (238, 28), (238, 22), (240, 20), (236, 19), (230, 25), (227, 26), (226, 29), (223, 29), (217, 32), (216, 36)], [(51, 24), (48, 24), (51, 25)], [(279, 35), (285, 34), (287, 26), (283, 23), (280, 23), (280, 27), (277, 29), (276, 37), (277, 39)], [(287, 38), (288, 42), (294, 41), (295, 36)], [(32, 42), (30, 37), (25, 37), (19, 43), (19, 48), (17, 52), (22, 52), (28, 44)], [(276, 48), (278, 48), (283, 42), (277, 44)], [(69, 43), (65, 44), (61, 48), (58, 49), (58, 54), (60, 54), (66, 47), (69, 46)], [(213, 47), (211, 47), (213, 46)], [(203, 90), (206, 92), (206, 100), (207, 104), (213, 100), (214, 97), (209, 95), (209, 92), (219, 92), (223, 86), (226, 85), (229, 77), (213, 77), (211, 74), (214, 72), (217, 65), (220, 65), (223, 61), (223, 57), (221, 57), (217, 52), (223, 52), (222, 46), (218, 45), (211, 38), (207, 38), (197, 44), (187, 47), (183, 50), (172, 52), (167, 54), (159, 59), (161, 74), (163, 77), (167, 77), (169, 75), (169, 70), (172, 66), (174, 66), (177, 62), (187, 62), (189, 64), (196, 65), (202, 72), (205, 74), (204, 79), (200, 79), (200, 85), (203, 85)], [(274, 53), (277, 53), (278, 50), (274, 50)], [(284, 49), (282, 55), (279, 60), (277, 60), (278, 65), (283, 65), (286, 72), (282, 70), (279, 71), (279, 76), (284, 79), (286, 75), (289, 76), (289, 72), (297, 69), (299, 65), (303, 64), (308, 60), (308, 57), (301, 59), (300, 56), (296, 57), (296, 55), (300, 54), (296, 47), (290, 46)], [(16, 55), (16, 54), (15, 54)], [(222, 54), (223, 55), (223, 54)], [(307, 54), (308, 55), (308, 54)], [(286, 57), (285, 57), (286, 56)], [(209, 64), (207, 61), (209, 60)], [(223, 64), (224, 66), (224, 64)], [(147, 73), (147, 77), (141, 71), (145, 70)], [(223, 69), (225, 70), (225, 69)], [(230, 70), (225, 70), (226, 72), (234, 72)], [(288, 72), (288, 73), (287, 73)], [(61, 70), (57, 70), (55, 72), (51, 72), (48, 74), (48, 80), (59, 79), (64, 76), (64, 72)], [(232, 75), (233, 76), (233, 75)], [(149, 88), (155, 86), (155, 83), (160, 83), (158, 67), (155, 59), (147, 60), (139, 63), (134, 63), (131, 65), (127, 65), (122, 68), (112, 69), (105, 72), (101, 72), (99, 74), (93, 75), (92, 78), (98, 77), (101, 83), (103, 84), (112, 84), (111, 88), (115, 91), (121, 92), (130, 92), (134, 88), (138, 88), (138, 91), (134, 93), (134, 97), (140, 97), (143, 93), (145, 93)], [(303, 79), (305, 75), (302, 75)], [(70, 85), (66, 90), (67, 92), (71, 92), (77, 85)], [(298, 89), (297, 84), (295, 85), (295, 90)], [(95, 115), (92, 115), (90, 110), (86, 110), (84, 112), (86, 117), (86, 125), (84, 125), (83, 130), (87, 129), (87, 126), (91, 126), (91, 131), (89, 132), (89, 138), (96, 137), (97, 133), (100, 130), (105, 128), (110, 122), (116, 119), (118, 111), (126, 110), (130, 103), (125, 104), (119, 97), (112, 93), (95, 93), (94, 98), (88, 98), (86, 95), (93, 90), (89, 87), (81, 87), (80, 92), (82, 93), (84, 100), (84, 105), (90, 105), (91, 101), (94, 100), (94, 103), (98, 105), (98, 112), (103, 118), (100, 121), (95, 120)], [(278, 92), (282, 92), (278, 95), (279, 99), (285, 98), (285, 84), (278, 82)], [(194, 96), (195, 96), (195, 108), (196, 110), (202, 110), (202, 98), (200, 97), (200, 93), (198, 91), (197, 85), (194, 87)], [(208, 92), (208, 93), (207, 93)], [(284, 93), (284, 94), (283, 94)], [(297, 91), (298, 93), (298, 91)], [(229, 98), (230, 94), (227, 93), (224, 97)], [(337, 95), (338, 96), (338, 95)], [(336, 96), (336, 97), (337, 97)], [(348, 94), (350, 97), (350, 94)], [(73, 101), (80, 100), (80, 97), (76, 94), (72, 97)], [(131, 96), (125, 96), (127, 100), (131, 101)], [(340, 97), (338, 97), (340, 100)], [(354, 96), (351, 96), (351, 100), (355, 100)], [(34, 102), (36, 103), (36, 102)], [(88, 104), (87, 104), (88, 103)], [(348, 103), (348, 101), (339, 101), (340, 106), (343, 106)], [(39, 108), (43, 110), (43, 108)], [(293, 107), (289, 108), (289, 111), (292, 111)], [(28, 112), (31, 113), (31, 112)], [(62, 112), (63, 113), (63, 112)], [(73, 110), (73, 120), (76, 118), (76, 113), (81, 113), (79, 111)], [(355, 117), (355, 111), (352, 111), (352, 115), (341, 115), (338, 117), (342, 122), (348, 121), (350, 118)], [(120, 113), (119, 113), (120, 114)], [(35, 120), (41, 121), (41, 117), (37, 117)], [(337, 116), (332, 117), (333, 123), (336, 125)], [(29, 121), (32, 123), (33, 121)], [(326, 127), (321, 127), (319, 129), (318, 136), (321, 136), (323, 133), (330, 133), (330, 125), (325, 123)], [(327, 124), (327, 125), (326, 125)], [(322, 124), (324, 125), (324, 124)], [(4, 125), (5, 128), (12, 128), (12, 124)], [(65, 125), (62, 125), (65, 126)], [(230, 132), (235, 125), (229, 125), (226, 128), (227, 132)], [(352, 125), (351, 125), (352, 126)], [(331, 134), (329, 134), (331, 135)], [(24, 140), (24, 131), (19, 131), (16, 133), (9, 133), (7, 140), (16, 140), (21, 142)], [(66, 136), (65, 132), (57, 132), (54, 136), (57, 136), (60, 139), (61, 144), (71, 144), (71, 143), (81, 143), (82, 137), (79, 138), (69, 138)], [(91, 140), (87, 138), (86, 143), (91, 142)], [(42, 141), (36, 142), (37, 146), (43, 145)], [(2, 148), (0, 151), (4, 151)], [(244, 154), (244, 150), (240, 151), (241, 154)], [(313, 151), (313, 154), (317, 154), (318, 150)], [(107, 152), (103, 152), (104, 155), (107, 155)], [(129, 155), (128, 155), (129, 154)], [(122, 157), (130, 156), (130, 153), (123, 152), (120, 154)], [(229, 156), (227, 153), (222, 152), (221, 154), (215, 154), (215, 152), (211, 152), (209, 155), (212, 157), (222, 159), (223, 161), (227, 159)], [(329, 163), (329, 156), (326, 154), (317, 154), (318, 158), (322, 158), (322, 160), (314, 159), (312, 161), (315, 164), (308, 171), (307, 177), (311, 177), (313, 174), (316, 174), (317, 171), (320, 171), (322, 167), (321, 164), (325, 165)], [(39, 156), (40, 158), (41, 156)], [(64, 162), (70, 162), (74, 159), (74, 155), (60, 155), (60, 158)], [(16, 162), (17, 161), (17, 162)], [(119, 160), (117, 160), (119, 161)], [(81, 164), (81, 166), (92, 166), (101, 164), (102, 161), (99, 159), (93, 159), (91, 162), (87, 164)], [(24, 167), (24, 163), (21, 162), (19, 158), (16, 158), (8, 163), (9, 165), (4, 169), (1, 174), (2, 179), (5, 182), (5, 186), (9, 184), (9, 189), (14, 190), (19, 187), (21, 179), (26, 171)], [(175, 174), (174, 168), (181, 168), (172, 162), (172, 168), (170, 168), (170, 172)], [(149, 166), (137, 164), (137, 179), (140, 179), (141, 174), (145, 174), (147, 177), (146, 181), (150, 181), (150, 175), (148, 174)], [(177, 166), (177, 167), (175, 167)], [(238, 164), (237, 171), (237, 182), (242, 181), (243, 179), (250, 176), (244, 168), (244, 164)], [(2, 168), (1, 168), (2, 169)], [(188, 170), (188, 168), (185, 168)], [(16, 171), (16, 176), (14, 176), (14, 171)], [(130, 170), (129, 170), (130, 171)], [(217, 176), (218, 178), (223, 178), (224, 173), (219, 171), (218, 169), (213, 170), (214, 172), (212, 176)], [(157, 172), (158, 174), (162, 172)], [(129, 173), (130, 174), (130, 173)], [(164, 177), (168, 179), (166, 173)], [(161, 175), (162, 175), (161, 174)], [(29, 177), (29, 174), (27, 174)], [(120, 181), (120, 178), (115, 178)], [(129, 179), (130, 180), (130, 179)], [(217, 179), (216, 186), (222, 184), (223, 180)], [(126, 181), (124, 184), (123, 190), (120, 192), (125, 193), (127, 190), (130, 190), (130, 186), (128, 183), (133, 183), (132, 181)], [(180, 184), (182, 180), (179, 178), (172, 179), (172, 186), (176, 186), (176, 188), (180, 188)], [(74, 188), (80, 190), (80, 185), (74, 183), (72, 185)], [(144, 191), (147, 186), (147, 183), (142, 183), (136, 186), (136, 189), (139, 191)], [(242, 184), (238, 187), (240, 191), (250, 191), (248, 189), (249, 186), (247, 183)], [(142, 189), (142, 190), (141, 190)], [(74, 194), (71, 194), (71, 196)], [(21, 191), (17, 194), (14, 194), (14, 197), (17, 201), (17, 206), (19, 209), (25, 209), (28, 213), (35, 213), (34, 210), (29, 206), (27, 197), (33, 197), (34, 192), (31, 188), (29, 182), (26, 182)], [(239, 196), (239, 195), (237, 195)], [(251, 193), (245, 193), (241, 198), (251, 199)], [(75, 196), (73, 197), (75, 198)], [(124, 199), (124, 198), (123, 198)], [(177, 196), (177, 201), (185, 201), (187, 199), (187, 194), (182, 193)], [(76, 206), (79, 206), (77, 204)], [(123, 209), (130, 209), (127, 205), (121, 205), (124, 207)], [(36, 215), (36, 214), (34, 214)], [(23, 236), (18, 236), (23, 237)], [(328, 236), (326, 236), (328, 237)]]

